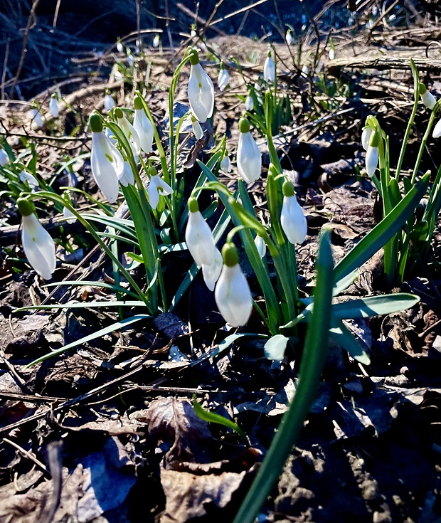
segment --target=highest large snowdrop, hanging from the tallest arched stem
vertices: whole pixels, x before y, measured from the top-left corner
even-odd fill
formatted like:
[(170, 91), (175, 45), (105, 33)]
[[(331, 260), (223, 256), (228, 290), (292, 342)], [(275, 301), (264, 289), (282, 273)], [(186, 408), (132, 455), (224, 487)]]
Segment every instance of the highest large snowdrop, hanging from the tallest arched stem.
[(193, 49), (190, 57), (191, 70), (188, 80), (188, 102), (199, 122), (206, 122), (213, 115), (214, 87), (211, 78), (199, 63), (198, 51)]

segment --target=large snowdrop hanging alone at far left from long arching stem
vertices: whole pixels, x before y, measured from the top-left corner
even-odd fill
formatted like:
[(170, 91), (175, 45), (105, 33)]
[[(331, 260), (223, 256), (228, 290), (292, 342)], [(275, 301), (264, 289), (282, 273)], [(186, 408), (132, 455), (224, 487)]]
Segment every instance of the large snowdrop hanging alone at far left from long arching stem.
[(34, 214), (35, 206), (31, 201), (19, 198), (17, 206), (23, 216), (21, 241), (26, 258), (38, 275), (45, 280), (50, 280), (56, 265), (55, 243), (48, 231), (38, 221)]

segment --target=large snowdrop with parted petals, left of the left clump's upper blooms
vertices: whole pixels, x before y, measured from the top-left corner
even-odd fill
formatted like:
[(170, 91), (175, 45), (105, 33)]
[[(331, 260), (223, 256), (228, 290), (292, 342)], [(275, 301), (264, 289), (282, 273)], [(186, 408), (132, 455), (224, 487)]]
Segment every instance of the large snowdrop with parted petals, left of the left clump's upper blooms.
[(90, 117), (90, 130), (92, 130), (92, 154), (90, 154), (92, 174), (102, 194), (111, 204), (114, 204), (118, 198), (118, 178), (124, 170), (124, 160), (103, 132), (99, 115)]

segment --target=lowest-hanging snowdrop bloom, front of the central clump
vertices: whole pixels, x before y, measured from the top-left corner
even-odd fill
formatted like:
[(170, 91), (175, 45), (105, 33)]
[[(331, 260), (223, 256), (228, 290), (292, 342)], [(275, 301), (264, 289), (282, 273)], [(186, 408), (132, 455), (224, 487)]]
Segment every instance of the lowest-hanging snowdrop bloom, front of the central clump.
[(223, 268), (214, 297), (225, 322), (232, 327), (245, 325), (253, 310), (250, 286), (239, 265), (238, 250), (233, 243), (222, 249)]

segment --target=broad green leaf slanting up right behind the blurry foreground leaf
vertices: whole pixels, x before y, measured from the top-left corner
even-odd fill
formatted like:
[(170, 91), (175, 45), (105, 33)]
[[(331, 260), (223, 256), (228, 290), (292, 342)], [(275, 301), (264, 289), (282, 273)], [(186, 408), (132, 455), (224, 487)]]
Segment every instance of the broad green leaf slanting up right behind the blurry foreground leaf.
[(383, 245), (386, 245), (390, 238), (400, 230), (410, 214), (415, 210), (420, 199), (423, 198), (429, 179), (430, 174), (425, 174), (418, 184), (410, 189), (400, 203), (388, 213), (388, 216), (383, 218), (372, 231), (366, 234), (366, 236), (337, 263), (334, 268), (334, 278), (336, 282), (339, 282), (339, 280), (345, 278), (353, 270), (363, 265), (363, 263), (380, 250)]

